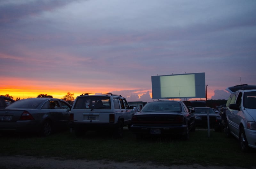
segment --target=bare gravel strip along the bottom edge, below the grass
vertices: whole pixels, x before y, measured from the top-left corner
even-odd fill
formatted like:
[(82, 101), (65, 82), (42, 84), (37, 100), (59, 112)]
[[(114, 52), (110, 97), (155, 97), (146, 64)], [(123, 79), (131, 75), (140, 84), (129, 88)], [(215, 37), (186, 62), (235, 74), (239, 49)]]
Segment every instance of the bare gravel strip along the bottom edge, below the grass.
[[(107, 160), (67, 160), (63, 158), (36, 158), (31, 156), (0, 156), (1, 169), (231, 169), (227, 166), (193, 165), (156, 165), (152, 162), (113, 162)], [(252, 167), (253, 169), (255, 167)], [(237, 169), (243, 169), (237, 167)]]

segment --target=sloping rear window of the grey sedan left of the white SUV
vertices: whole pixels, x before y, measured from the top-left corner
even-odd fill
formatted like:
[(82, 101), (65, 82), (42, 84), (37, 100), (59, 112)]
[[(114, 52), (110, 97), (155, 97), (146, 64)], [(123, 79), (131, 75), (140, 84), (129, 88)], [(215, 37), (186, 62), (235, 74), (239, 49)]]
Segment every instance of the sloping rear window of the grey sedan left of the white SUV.
[(39, 104), (44, 102), (45, 100), (31, 100), (31, 99), (24, 99), (24, 100), (18, 100), (11, 105), (7, 106), (6, 109), (35, 109), (38, 107)]

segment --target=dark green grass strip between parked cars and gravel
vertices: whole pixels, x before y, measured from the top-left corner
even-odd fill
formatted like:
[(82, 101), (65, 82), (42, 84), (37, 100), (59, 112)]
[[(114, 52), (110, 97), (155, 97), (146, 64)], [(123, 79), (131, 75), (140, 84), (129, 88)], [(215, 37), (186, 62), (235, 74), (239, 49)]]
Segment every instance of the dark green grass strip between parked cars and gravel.
[(188, 141), (157, 138), (137, 140), (129, 130), (124, 130), (122, 139), (96, 132), (77, 138), (73, 132), (67, 131), (49, 137), (0, 136), (0, 142), (0, 155), (153, 161), (164, 165), (256, 166), (256, 151), (243, 153), (234, 137), (226, 138), (225, 133), (214, 131), (208, 137), (207, 130), (191, 132)]

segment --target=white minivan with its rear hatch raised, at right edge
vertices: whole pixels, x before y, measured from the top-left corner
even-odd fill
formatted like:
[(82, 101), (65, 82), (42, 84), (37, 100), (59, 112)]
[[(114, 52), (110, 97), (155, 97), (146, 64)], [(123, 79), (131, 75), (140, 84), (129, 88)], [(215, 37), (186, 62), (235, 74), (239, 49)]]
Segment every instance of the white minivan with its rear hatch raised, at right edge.
[(226, 132), (240, 142), (242, 151), (256, 148), (256, 86), (237, 85), (229, 87), (227, 101)]

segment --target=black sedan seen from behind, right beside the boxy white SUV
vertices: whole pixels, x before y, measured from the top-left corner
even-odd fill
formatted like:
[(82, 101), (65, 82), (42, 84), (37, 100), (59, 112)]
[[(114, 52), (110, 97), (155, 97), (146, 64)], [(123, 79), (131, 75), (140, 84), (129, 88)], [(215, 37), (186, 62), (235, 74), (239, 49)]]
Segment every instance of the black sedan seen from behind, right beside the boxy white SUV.
[(195, 131), (195, 116), (180, 101), (148, 102), (132, 117), (131, 131), (137, 137), (180, 135), (187, 140), (190, 130)]

